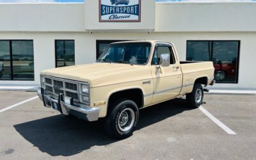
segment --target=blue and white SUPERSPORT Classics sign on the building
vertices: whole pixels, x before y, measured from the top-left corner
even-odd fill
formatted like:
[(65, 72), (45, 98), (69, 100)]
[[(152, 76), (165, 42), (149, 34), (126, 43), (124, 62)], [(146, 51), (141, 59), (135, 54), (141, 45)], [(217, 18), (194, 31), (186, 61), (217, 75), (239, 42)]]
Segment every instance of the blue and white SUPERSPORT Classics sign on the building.
[(100, 22), (140, 22), (141, 0), (99, 0)]

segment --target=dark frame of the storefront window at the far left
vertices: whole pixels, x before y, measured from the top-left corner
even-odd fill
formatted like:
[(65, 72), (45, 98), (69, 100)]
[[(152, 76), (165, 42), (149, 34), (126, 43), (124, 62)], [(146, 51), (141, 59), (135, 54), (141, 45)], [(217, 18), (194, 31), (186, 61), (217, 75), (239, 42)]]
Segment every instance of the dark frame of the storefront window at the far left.
[[(33, 39), (15, 39), (15, 40), (3, 40), (1, 39), (0, 41), (8, 41), (9, 42), (9, 47), (10, 47), (10, 74), (11, 74), (11, 78), (10, 79), (0, 79), (0, 81), (35, 81), (35, 48), (34, 48), (34, 40)], [(34, 63), (34, 67), (33, 67), (33, 74), (34, 77), (33, 79), (13, 79), (13, 53), (12, 53), (12, 42), (13, 41), (32, 41), (33, 43), (33, 63)]]

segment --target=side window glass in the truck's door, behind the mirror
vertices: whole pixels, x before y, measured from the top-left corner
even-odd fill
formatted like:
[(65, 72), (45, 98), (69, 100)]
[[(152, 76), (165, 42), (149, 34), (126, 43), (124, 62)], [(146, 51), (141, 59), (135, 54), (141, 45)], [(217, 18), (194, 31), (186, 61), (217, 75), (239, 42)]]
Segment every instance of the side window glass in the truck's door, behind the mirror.
[(170, 54), (170, 64), (174, 64), (174, 56), (171, 47), (168, 46), (158, 46), (156, 48), (156, 51), (154, 52), (153, 60), (152, 60), (152, 65), (159, 65), (160, 63), (160, 58), (161, 54)]

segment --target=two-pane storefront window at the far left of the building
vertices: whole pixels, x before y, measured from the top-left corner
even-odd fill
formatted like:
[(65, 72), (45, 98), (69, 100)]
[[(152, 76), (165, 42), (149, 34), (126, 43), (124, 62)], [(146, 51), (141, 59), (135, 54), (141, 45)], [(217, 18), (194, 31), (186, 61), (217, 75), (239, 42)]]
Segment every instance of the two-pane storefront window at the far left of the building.
[(0, 80), (34, 80), (33, 40), (0, 41)]

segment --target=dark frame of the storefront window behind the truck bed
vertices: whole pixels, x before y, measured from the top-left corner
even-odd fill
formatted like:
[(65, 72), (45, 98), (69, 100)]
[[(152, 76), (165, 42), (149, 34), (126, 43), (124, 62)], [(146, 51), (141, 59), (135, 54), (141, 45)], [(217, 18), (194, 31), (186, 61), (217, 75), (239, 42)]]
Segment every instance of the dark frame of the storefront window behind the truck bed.
[(209, 42), (209, 58), (212, 61), (213, 58), (213, 42), (237, 42), (237, 66), (236, 66), (236, 82), (228, 82), (228, 81), (216, 81), (216, 83), (220, 84), (238, 84), (239, 83), (239, 64), (240, 64), (240, 47), (241, 40), (187, 40), (186, 42), (186, 60), (188, 58), (188, 42)]

